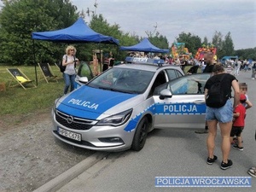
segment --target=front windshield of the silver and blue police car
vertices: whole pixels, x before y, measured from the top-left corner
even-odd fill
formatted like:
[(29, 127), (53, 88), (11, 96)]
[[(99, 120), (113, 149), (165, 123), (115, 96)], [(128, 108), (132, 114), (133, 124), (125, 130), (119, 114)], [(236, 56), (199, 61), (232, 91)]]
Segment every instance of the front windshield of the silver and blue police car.
[(104, 90), (142, 94), (148, 88), (148, 84), (153, 76), (153, 72), (112, 67), (87, 85)]

